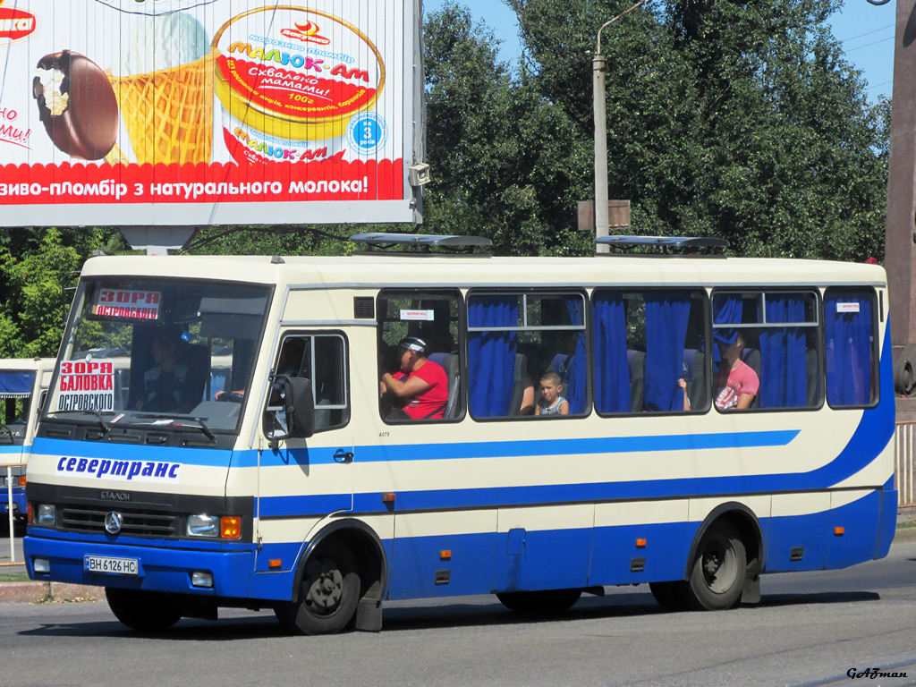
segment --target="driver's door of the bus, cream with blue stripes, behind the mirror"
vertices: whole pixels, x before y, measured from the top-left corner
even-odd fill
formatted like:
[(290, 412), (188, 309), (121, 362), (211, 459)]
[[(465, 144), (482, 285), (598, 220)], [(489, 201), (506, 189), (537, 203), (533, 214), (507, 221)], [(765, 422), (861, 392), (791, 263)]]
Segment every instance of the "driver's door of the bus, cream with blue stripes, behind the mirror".
[[(280, 441), (276, 452), (261, 452), (257, 513), (258, 534), (265, 542), (289, 540), (290, 520), (314, 522), (353, 509), (354, 429), (349, 422), (347, 356), (347, 341), (340, 332), (288, 333), (280, 340), (274, 368), (278, 375), (311, 381), (315, 431), (309, 439)], [(269, 399), (267, 403), (270, 407)], [(295, 545), (293, 540), (287, 543)], [(258, 554), (259, 572), (267, 571), (267, 558), (279, 558), (268, 556), (269, 551), (266, 547), (263, 555)]]

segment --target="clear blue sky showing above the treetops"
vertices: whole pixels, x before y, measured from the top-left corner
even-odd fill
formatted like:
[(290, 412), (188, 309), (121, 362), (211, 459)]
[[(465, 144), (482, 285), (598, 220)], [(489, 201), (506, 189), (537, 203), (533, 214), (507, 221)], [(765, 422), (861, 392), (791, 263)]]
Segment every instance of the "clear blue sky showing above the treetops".
[[(515, 14), (501, 0), (454, 0), (493, 29), (502, 41), (502, 60), (518, 60), (518, 26)], [(424, 0), (427, 13), (442, 8), (444, 0)], [(897, 4), (871, 5), (867, 0), (845, 0), (843, 9), (831, 18), (834, 36), (842, 41), (846, 59), (863, 72), (868, 99), (890, 97), (894, 62), (894, 21)]]

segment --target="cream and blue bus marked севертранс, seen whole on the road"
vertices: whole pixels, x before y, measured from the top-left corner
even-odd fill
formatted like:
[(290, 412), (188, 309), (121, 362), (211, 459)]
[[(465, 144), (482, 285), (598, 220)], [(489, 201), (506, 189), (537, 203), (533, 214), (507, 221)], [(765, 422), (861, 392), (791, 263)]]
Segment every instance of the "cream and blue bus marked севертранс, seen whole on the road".
[[(554, 613), (643, 583), (724, 610), (887, 555), (882, 267), (354, 238), (85, 263), (29, 464), (33, 579), (103, 586), (139, 630), (245, 607), (323, 634), (389, 600)], [(379, 384), (406, 337), (444, 373), (417, 419)], [(545, 378), (568, 412), (540, 413)]]

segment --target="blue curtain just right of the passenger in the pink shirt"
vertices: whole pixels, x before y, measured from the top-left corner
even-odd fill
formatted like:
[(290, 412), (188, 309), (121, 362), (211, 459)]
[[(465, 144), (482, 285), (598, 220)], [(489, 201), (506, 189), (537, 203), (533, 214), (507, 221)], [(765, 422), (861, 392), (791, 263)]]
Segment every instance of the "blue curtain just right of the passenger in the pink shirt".
[[(799, 294), (768, 294), (767, 322), (804, 322)], [(760, 408), (800, 408), (808, 400), (801, 327), (760, 330)]]

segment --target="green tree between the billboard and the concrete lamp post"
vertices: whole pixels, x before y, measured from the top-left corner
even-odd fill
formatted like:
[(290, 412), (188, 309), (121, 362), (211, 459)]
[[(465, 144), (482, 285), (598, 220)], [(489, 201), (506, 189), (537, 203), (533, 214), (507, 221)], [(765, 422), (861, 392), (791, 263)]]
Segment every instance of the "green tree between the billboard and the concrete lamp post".
[(492, 31), (445, 5), (425, 27), (425, 223), (438, 234), (480, 234), (496, 253), (537, 255), (584, 245), (573, 232), (589, 159), (562, 108), (496, 60)]

